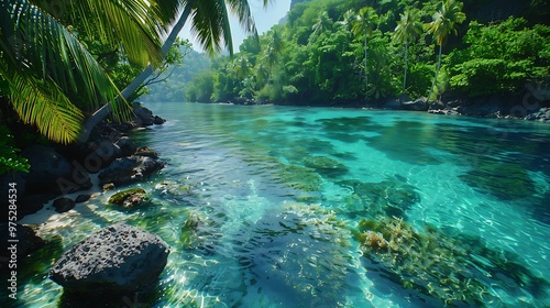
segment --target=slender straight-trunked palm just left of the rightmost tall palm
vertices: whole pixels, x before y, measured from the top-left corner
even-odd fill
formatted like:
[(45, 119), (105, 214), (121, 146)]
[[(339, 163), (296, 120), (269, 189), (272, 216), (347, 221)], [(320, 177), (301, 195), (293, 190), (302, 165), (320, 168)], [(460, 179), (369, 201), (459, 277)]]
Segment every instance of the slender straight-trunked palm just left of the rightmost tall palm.
[(403, 92), (407, 85), (407, 68), (409, 57), (409, 43), (414, 42), (422, 31), (422, 23), (420, 22), (420, 14), (417, 10), (407, 9), (402, 19), (397, 22), (393, 38), (400, 44), (405, 44), (405, 75), (403, 77)]

